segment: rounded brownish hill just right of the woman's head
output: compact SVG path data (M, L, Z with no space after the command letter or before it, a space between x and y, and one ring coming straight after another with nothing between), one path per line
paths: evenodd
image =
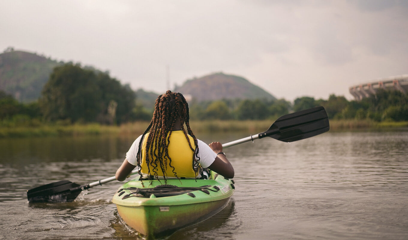
M187 80L181 87L176 87L175 91L182 93L186 98L190 95L197 101L276 99L270 93L252 84L245 78L224 73L213 73L201 78Z

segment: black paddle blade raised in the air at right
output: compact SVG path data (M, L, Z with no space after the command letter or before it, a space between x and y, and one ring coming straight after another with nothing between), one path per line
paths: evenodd
M268 130L259 133L259 138L268 136L283 142L294 142L325 133L329 129L324 107L314 107L278 118Z

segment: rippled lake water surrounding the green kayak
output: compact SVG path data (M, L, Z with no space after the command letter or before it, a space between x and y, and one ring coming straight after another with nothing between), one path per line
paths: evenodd
M120 182L70 203L29 204L26 193L114 176L133 140L0 139L0 239L139 239L111 203ZM224 150L235 168L230 204L168 239L408 239L408 129L328 132L290 144L265 138Z

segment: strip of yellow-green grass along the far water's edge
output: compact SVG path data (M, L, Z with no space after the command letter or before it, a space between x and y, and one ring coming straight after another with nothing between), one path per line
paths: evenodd
M194 133L248 131L259 133L266 131L273 120L208 120L192 121ZM36 127L0 127L0 138L8 137L43 137L43 136L89 136L102 134L119 134L137 136L144 132L149 122L132 122L120 126L107 126L97 123L72 125L40 125ZM375 122L372 120L330 120L330 131L354 131L369 129L390 129L408 127L405 122Z

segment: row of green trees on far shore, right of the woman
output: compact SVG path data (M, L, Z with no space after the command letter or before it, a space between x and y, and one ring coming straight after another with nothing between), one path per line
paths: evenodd
M327 100L313 97L296 98L292 103L284 100L219 100L207 103L193 103L192 118L195 119L237 119L275 120L292 111L323 106L329 119L408 121L408 94L400 91L379 89L361 101L349 101L344 96L331 94Z

